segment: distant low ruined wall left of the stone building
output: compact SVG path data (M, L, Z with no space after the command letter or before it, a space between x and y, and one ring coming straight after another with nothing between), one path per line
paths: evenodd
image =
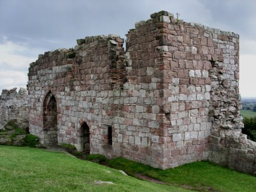
M27 91L24 88L20 88L17 93L16 89L2 91L0 97L0 124L4 126L6 122L13 121L21 129L28 131L29 105Z

